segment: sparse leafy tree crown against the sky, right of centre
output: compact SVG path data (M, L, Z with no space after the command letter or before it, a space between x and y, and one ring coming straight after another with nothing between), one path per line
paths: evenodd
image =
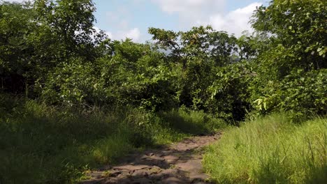
M170 52L173 62L182 63L183 70L191 59L212 60L216 66L223 66L233 61L233 54L238 52L237 39L224 31L215 31L211 26L193 27L189 31L166 31L150 28L152 39L161 49Z

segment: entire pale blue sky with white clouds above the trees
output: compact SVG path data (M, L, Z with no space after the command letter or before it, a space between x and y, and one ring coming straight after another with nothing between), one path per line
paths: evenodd
M23 1L23 0L6 0ZM217 31L240 36L252 32L249 18L268 0L94 0L96 29L109 38L150 40L149 27L187 31L192 26L211 25Z

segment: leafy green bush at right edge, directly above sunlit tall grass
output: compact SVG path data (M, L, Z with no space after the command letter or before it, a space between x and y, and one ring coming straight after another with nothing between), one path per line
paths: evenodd
M304 72L297 70L281 82L270 81L264 96L256 100L260 112L292 112L295 120L327 112L326 69Z

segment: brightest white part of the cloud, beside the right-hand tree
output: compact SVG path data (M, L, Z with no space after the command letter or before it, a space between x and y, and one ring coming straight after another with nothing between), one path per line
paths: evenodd
M203 22L203 24L211 24L216 30L227 31L228 33L234 33L235 36L240 36L242 31L253 31L249 20L256 7L261 5L262 3L251 3L249 6L238 8L226 15L219 13L211 15L208 22Z

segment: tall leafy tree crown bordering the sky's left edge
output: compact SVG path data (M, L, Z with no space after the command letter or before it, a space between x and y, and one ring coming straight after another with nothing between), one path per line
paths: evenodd
M55 58L61 61L71 59L72 56L89 61L96 58L94 47L101 33L96 33L94 29L96 9L92 0L38 0L34 2L34 9L38 13L37 21L41 24L41 32L36 36L48 36L50 31L50 44L57 44L55 50L51 51L56 53Z

